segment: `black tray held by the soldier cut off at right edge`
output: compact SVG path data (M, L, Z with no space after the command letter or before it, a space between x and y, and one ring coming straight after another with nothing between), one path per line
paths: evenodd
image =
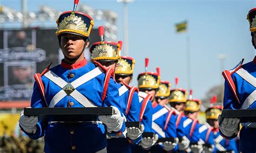
M222 111L223 117L238 117L241 122L256 122L256 109L224 109Z

